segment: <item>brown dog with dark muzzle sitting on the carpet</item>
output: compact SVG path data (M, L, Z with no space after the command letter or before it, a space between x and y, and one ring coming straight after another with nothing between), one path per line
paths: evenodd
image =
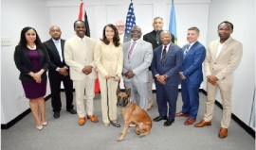
M135 103L130 101L130 93L130 89L128 89L126 92L120 92L120 89L118 88L117 91L117 106L121 109L121 115L124 120L124 127L119 139L117 140L118 142L123 141L124 136L127 133L127 129L131 123L135 124L135 131L139 137L144 137L150 134L150 130L152 128L152 120L150 116L144 109L138 107Z

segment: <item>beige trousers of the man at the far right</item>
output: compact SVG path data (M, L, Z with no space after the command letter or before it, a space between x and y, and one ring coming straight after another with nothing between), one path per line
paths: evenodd
M217 90L219 89L223 107L221 127L229 128L231 119L231 94L233 82L218 81L216 85L212 85L210 82L208 82L207 86L208 95L204 120L208 122L212 119L215 97Z

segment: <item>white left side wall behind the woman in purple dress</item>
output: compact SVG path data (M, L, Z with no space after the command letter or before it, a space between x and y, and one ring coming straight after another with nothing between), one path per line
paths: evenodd
M1 46L1 124L7 124L29 108L13 60L20 32L27 25L33 26L41 40L46 41L49 13L46 1L42 0L2 0L1 13L1 37L11 41L10 46Z

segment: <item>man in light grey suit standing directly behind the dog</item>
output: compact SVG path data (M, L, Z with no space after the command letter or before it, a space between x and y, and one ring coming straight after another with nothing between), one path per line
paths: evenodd
M139 94L139 107L147 109L149 66L153 59L153 49L150 42L140 39L141 28L135 25L131 30L131 42L123 43L123 81L126 89L131 89L131 99L137 103Z

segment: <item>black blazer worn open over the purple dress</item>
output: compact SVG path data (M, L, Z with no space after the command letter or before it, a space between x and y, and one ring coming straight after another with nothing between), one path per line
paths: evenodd
M15 65L20 71L20 76L19 79L21 81L26 81L26 82L34 82L34 79L30 76L27 75L29 72L32 72L32 66L31 66L31 61L28 56L29 49L27 47L22 47L21 45L17 45L15 47L15 52L14 52L14 61ZM48 66L49 66L49 58L46 49L43 48L38 48L39 52L39 66L41 69L44 69L47 71ZM46 72L41 76L43 80L47 79Z

